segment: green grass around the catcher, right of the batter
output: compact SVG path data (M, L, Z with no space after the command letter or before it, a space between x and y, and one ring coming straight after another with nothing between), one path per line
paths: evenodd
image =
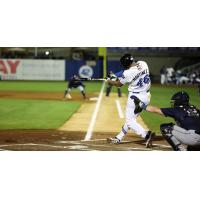
M151 105L167 108L170 107L170 99L175 92L184 90L188 92L191 99L191 104L194 104L198 108L200 108L200 96L198 94L198 90L196 87L171 87L171 86L152 86L151 88ZM154 113L148 113L143 111L141 114L143 120L147 124L147 126L159 133L160 132L160 124L174 122L172 118L163 117L161 115L157 115Z

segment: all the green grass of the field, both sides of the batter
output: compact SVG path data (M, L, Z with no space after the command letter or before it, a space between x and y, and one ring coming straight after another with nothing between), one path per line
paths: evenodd
M86 91L99 92L101 82L85 82ZM66 82L24 82L0 81L0 91L32 91L32 92L63 92ZM200 107L200 96L196 87L177 87L153 85L151 88L151 104L158 107L170 107L170 98L173 93L184 90L189 93L191 103ZM127 88L122 88L127 93ZM79 92L75 90L74 92ZM116 92L116 88L113 88ZM58 128L81 105L73 101L67 104L60 101L45 100L12 100L0 99L0 129L49 129ZM156 114L142 112L142 117L148 127L159 132L159 125L171 122Z

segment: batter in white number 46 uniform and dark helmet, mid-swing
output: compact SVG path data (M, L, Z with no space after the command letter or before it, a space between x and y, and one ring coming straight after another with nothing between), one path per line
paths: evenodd
M147 106L150 103L151 80L148 65L144 61L136 61L131 54L122 56L120 63L124 68L122 77L116 81L107 80L107 82L117 87L128 84L129 95L126 105L126 122L122 126L120 133L114 138L108 138L107 141L109 143L120 143L128 130L132 129L137 135L145 138L146 147L150 147L155 133L145 130L136 121L142 111L140 104Z

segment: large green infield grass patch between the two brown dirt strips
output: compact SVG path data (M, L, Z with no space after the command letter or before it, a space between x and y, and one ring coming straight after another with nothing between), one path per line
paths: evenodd
M0 129L57 129L79 102L0 99Z

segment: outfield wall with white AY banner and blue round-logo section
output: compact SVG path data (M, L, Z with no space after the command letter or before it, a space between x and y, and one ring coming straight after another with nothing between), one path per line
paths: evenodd
M102 78L102 66L102 60L0 59L0 77L2 80L63 81L76 74L82 78Z

